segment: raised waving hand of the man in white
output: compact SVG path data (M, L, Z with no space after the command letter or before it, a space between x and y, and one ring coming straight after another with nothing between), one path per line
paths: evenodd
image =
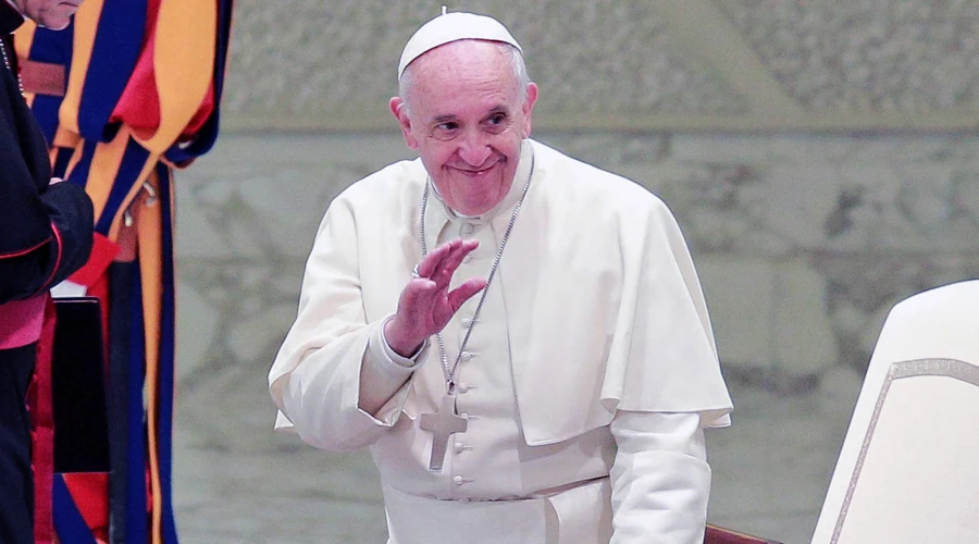
M454 239L435 248L420 263L418 277L401 290L398 310L384 325L384 336L394 351L409 357L429 336L441 332L463 302L486 287L473 277L449 290L453 274L462 259L479 247L478 240Z

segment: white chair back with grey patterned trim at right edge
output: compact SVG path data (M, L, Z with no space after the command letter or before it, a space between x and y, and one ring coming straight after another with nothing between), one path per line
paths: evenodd
M897 304L813 544L979 542L979 281Z

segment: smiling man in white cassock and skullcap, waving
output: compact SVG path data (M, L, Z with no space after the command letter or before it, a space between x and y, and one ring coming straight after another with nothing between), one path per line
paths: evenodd
M369 447L389 544L703 542L732 409L669 209L530 139L497 21L443 14L392 98L419 159L326 210L269 373L276 426Z

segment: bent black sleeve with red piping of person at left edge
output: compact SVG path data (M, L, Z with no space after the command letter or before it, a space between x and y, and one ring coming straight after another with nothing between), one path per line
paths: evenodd
M91 252L92 207L85 190L69 182L41 195L51 238L36 249L0 259L0 304L54 286L82 268Z

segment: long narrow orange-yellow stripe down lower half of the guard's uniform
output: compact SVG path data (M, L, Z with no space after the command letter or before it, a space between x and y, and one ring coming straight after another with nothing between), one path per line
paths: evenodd
M148 182L158 189L160 184L156 172L151 173ZM146 323L146 421L149 440L150 461L150 489L153 497L152 509L152 542L160 544L162 540L162 509L163 495L160 486L160 456L157 440L157 418L159 415L159 384L160 374L160 316L163 305L163 236L161 233L162 218L160 203L146 206L142 200L136 203L139 254L139 271L142 280L142 319Z

